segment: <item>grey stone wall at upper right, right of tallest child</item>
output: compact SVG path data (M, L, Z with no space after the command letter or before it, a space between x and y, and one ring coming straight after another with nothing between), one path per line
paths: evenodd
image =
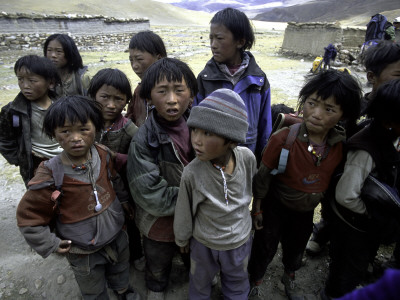
M341 49L357 52L364 42L364 37L365 29L342 28L334 23L289 22L282 51L316 57L322 56L324 47L329 44L340 44Z

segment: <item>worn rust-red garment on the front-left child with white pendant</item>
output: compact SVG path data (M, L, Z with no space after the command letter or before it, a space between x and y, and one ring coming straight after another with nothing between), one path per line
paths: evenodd
M59 206L51 200L51 194L55 190L54 184L49 187L32 190L35 185L54 181L50 169L41 163L36 175L28 183L28 191L22 197L17 208L17 223L19 227L48 225L58 215L62 223L75 223L95 215L101 214L116 199L116 194L108 178L108 170L113 170L112 161L108 162L107 152L98 146L96 150L101 160L101 169L96 181L98 198L103 205L99 212L94 210L96 199L91 183L84 183L64 175L63 196ZM114 174L113 174L114 175ZM77 198L78 197L78 198Z

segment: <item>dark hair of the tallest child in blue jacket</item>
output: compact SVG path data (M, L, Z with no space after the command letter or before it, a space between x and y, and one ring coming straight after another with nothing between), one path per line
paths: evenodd
M255 43L253 27L249 18L240 10L234 8L225 8L217 12L210 21L211 24L221 24L232 32L236 41L245 39L246 42L241 50L250 50Z

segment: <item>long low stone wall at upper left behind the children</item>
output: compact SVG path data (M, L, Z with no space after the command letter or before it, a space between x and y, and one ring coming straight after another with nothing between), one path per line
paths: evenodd
M42 48L53 33L69 34L78 47L127 45L133 33L149 30L147 19L79 15L0 14L0 51Z

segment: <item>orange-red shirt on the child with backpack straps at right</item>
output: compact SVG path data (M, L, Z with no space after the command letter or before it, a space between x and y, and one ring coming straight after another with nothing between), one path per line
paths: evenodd
M269 169L278 166L279 156L289 128L285 128L272 135L264 151L262 162ZM329 147L327 145L327 147ZM328 155L321 160L320 166L316 163L308 150L308 143L296 138L289 150L289 159L286 170L278 174L277 179L295 190L305 193L321 193L327 190L332 174L343 158L343 143L336 143L329 148Z

